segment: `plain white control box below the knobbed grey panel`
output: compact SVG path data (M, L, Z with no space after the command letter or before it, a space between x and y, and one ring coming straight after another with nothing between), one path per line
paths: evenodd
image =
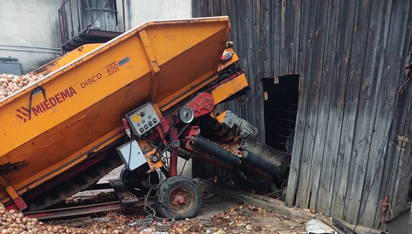
M147 162L136 140L122 144L116 150L128 170L134 170Z

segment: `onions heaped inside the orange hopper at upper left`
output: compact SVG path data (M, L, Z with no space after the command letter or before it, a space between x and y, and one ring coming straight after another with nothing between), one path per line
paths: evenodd
M12 75L1 74L0 75L0 100L5 99L7 96L18 92L23 87L31 85L38 79L41 79L43 75Z

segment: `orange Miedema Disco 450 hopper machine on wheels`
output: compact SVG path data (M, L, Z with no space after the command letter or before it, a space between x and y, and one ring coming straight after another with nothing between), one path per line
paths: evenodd
M157 190L161 214L193 217L200 198L190 178L175 176L179 152L240 163L240 156L209 151L198 135L201 118L248 86L226 48L229 29L228 17L149 22L33 71L45 76L0 101L0 202L41 210L124 163L129 179L149 184L150 172L164 170L170 178Z

